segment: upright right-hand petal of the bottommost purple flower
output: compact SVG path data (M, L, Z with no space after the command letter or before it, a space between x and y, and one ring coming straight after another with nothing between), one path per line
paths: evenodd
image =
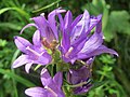
M54 75L53 81L55 82L55 84L57 84L57 87L61 88L62 82L63 82L62 72L57 72L57 73Z

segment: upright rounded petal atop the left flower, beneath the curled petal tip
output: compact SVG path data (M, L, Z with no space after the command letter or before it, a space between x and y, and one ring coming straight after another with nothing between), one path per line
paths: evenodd
M36 32L34 33L34 37L32 37L32 42L36 46L41 46L41 43L40 43L40 32L39 30L36 30Z

